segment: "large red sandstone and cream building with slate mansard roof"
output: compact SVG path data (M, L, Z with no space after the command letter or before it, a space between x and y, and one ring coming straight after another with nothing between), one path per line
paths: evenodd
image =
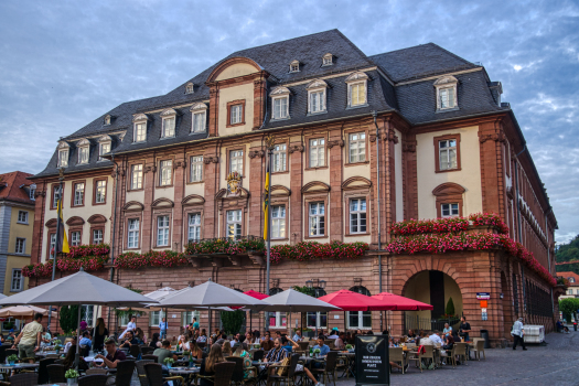
M519 315L549 330L557 292L502 250L384 250L395 222L496 213L508 236L555 272L557 222L501 94L501 83L481 64L432 43L366 56L332 30L233 53L174 90L121 104L58 141L46 169L32 178L32 261L46 261L54 247L61 168L72 245L112 244L115 236L115 256L183 253L190 240L262 235L265 140L272 135L272 245L369 245L355 260L272 264L274 291L310 280L318 293L345 288L376 294L382 282L384 291L435 305L432 312L386 313L393 333L430 329L423 321L444 313L450 298L472 334L489 330L495 344L510 337ZM242 175L238 194L227 191L232 172ZM120 268L115 280L144 293L208 278L267 291L259 256L189 259L171 268ZM108 278L108 272L94 274ZM57 272L63 275L68 272ZM46 280L31 278L30 286ZM490 293L486 315L478 292ZM99 308L89 313L106 318ZM174 332L191 317L169 313ZM202 325L206 318L202 312ZM262 330L262 317L253 318L254 329ZM278 312L267 323L282 329L288 319ZM158 320L159 314L149 315L149 332ZM308 313L305 320L309 326L341 330L347 323L377 331L382 323L379 312ZM147 318L139 321L147 324Z

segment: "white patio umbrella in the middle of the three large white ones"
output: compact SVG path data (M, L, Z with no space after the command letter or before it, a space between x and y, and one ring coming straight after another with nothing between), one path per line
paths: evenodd
M234 289L217 285L211 279L195 287L187 287L171 297L159 300L163 308L197 310L207 308L210 311L208 331L211 334L211 310L217 307L245 307L251 310L261 310L268 303L238 292Z

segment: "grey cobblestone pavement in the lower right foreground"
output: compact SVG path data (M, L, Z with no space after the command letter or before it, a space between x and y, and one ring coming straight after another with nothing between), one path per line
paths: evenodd
M579 385L579 332L551 333L547 345L512 349L489 349L486 361L469 361L467 366L443 366L420 371L410 365L407 374L395 371L392 385ZM353 379L340 379L336 386L353 386ZM333 385L326 385L333 386Z

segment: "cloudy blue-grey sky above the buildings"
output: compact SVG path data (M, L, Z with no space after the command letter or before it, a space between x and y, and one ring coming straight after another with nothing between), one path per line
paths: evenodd
M579 233L573 1L0 2L0 173L40 172L58 137L162 95L229 53L337 28L367 55L435 42L503 83L559 223Z

